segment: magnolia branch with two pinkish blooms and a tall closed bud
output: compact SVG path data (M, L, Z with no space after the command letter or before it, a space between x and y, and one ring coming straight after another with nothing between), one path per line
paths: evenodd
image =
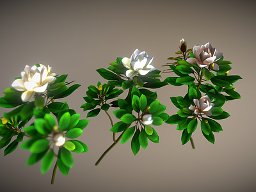
M215 120L230 116L221 107L228 100L240 99L233 84L240 76L228 76L231 62L223 60L222 52L216 51L211 44L195 45L187 49L186 41L180 40L181 54L168 63L170 70L178 77L167 77L164 81L174 86L188 85L188 93L184 97L170 97L173 104L179 108L176 115L166 120L166 124L177 124L177 130L182 131L182 145L191 141L192 133L200 123L204 137L214 143L213 132L222 131L221 125ZM204 94L204 96L202 96Z

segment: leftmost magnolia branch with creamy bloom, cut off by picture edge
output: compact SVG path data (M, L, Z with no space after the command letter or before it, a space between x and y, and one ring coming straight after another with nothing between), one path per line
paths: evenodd
M26 165L35 164L42 159L41 173L46 173L56 163L52 173L52 181L56 169L67 175L74 160L71 152L87 152L87 146L78 140L88 120L80 120L80 115L68 108L67 102L56 102L56 99L70 95L80 85L67 85L67 75L50 74L51 67L36 64L28 65L12 83L12 88L4 90L0 98L2 108L15 108L4 113L0 122L0 148L4 148L4 156L20 148L32 152ZM31 101L29 101L31 100ZM17 107L17 108L16 108ZM34 117L35 120L31 120ZM23 141L24 136L28 140ZM71 140L66 140L69 138ZM12 143L10 143L12 141Z

